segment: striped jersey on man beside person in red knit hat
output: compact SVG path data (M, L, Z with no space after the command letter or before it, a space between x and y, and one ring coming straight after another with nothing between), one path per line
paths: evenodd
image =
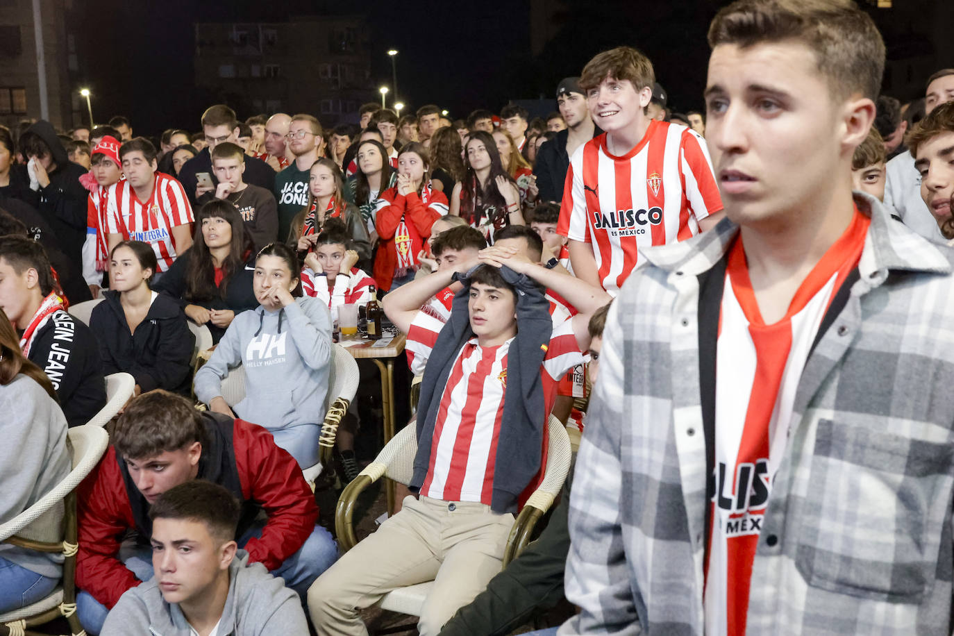
M147 201L140 201L125 179L110 189L106 213L109 234L151 244L159 271L168 270L178 256L173 228L196 220L182 184L168 174L156 173L153 194Z

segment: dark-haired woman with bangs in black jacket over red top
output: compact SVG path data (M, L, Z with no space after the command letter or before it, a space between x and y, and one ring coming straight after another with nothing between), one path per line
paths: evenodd
M252 292L255 252L239 210L225 200L198 209L192 247L154 285L218 342L237 315L259 306Z

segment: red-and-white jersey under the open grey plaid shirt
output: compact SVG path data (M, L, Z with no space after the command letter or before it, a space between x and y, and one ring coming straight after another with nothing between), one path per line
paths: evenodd
M856 210L774 324L765 324L759 313L742 239L730 249L716 340L716 488L705 570L706 634L745 634L758 534L785 455L798 381L825 312L858 265L869 224Z

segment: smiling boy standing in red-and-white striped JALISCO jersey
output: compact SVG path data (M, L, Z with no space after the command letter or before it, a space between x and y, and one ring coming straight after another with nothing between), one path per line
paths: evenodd
M606 132L570 157L557 231L570 238L575 276L613 296L640 249L695 236L721 218L705 140L650 119L654 83L652 62L630 47L599 53L579 79Z

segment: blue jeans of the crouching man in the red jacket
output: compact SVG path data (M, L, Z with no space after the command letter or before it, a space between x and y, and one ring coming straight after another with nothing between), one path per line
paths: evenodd
M246 531L239 539L239 547L247 544L253 537L260 537L261 530L262 526L255 526ZM135 574L135 578L139 581L149 581L153 578L152 548L124 543L119 548L119 560ZM285 559L271 573L284 579L285 586L294 589L303 603L311 584L336 561L338 561L338 544L330 532L321 525L316 525L315 530L301 545L299 551ZM94 636L102 630L108 613L106 606L96 601L88 592L80 591L76 595L76 614L88 634Z

